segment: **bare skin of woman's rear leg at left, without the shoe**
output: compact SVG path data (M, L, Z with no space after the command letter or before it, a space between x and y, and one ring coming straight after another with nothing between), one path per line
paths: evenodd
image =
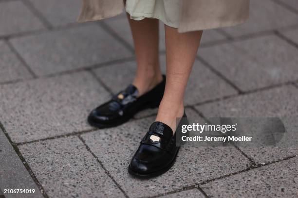
M133 85L138 88L139 96L143 95L162 81L158 55L158 19L145 18L140 21L130 19L137 71Z

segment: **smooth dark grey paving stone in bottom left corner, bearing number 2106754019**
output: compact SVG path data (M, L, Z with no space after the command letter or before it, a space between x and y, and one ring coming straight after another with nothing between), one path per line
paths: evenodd
M4 189L34 189L34 194L5 194L6 198L43 198L18 154L0 129L0 196ZM2 191L2 192L1 192Z

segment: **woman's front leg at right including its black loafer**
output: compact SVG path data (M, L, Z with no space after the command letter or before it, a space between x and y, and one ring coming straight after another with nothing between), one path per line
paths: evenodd
M163 174L177 156L179 147L172 144L175 139L164 124L176 132L176 117L182 117L184 113L184 92L202 36L202 31L178 33L175 28L166 26L165 29L167 80L156 117L159 122L150 126L150 133L142 139L128 169L130 174L139 178Z

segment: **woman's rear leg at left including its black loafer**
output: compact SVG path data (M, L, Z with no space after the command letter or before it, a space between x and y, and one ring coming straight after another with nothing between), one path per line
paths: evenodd
M156 107L164 94L166 83L159 68L158 56L158 19L135 21L129 18L129 22L137 62L132 82L134 86L127 86L117 96L91 111L88 122L97 128L109 128L127 122L138 111Z

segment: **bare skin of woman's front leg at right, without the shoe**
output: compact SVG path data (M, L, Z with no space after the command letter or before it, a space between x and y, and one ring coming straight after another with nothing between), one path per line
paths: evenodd
M203 31L178 33L165 25L167 81L156 121L170 126L175 132L176 117L184 113L184 93Z

